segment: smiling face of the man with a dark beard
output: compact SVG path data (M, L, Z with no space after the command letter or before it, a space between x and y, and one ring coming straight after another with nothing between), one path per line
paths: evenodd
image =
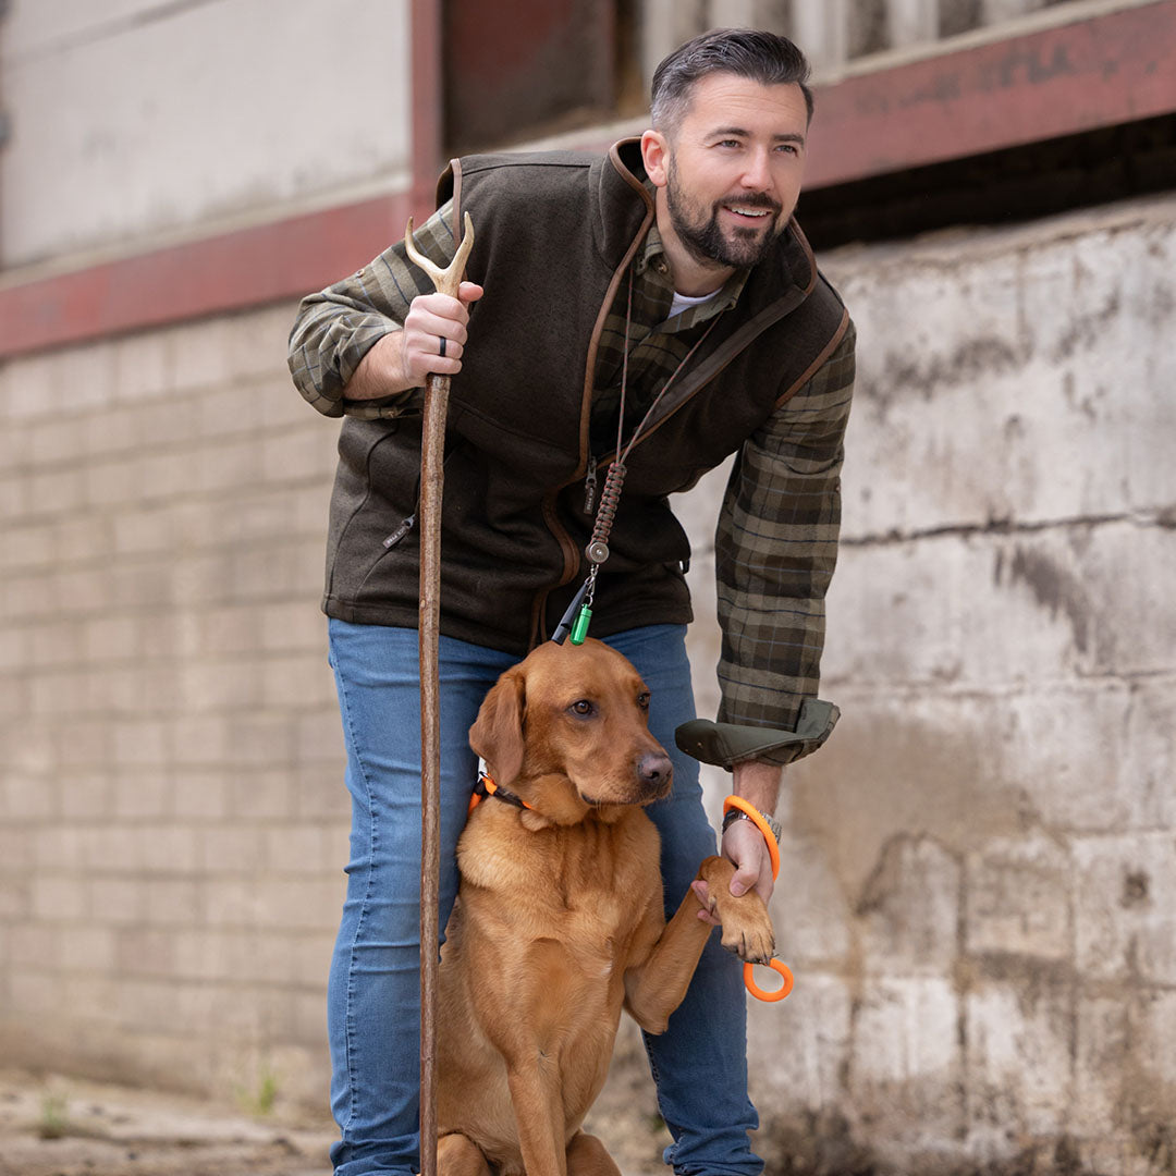
M744 269L783 232L800 196L808 111L800 86L700 79L667 142L670 223L702 265Z

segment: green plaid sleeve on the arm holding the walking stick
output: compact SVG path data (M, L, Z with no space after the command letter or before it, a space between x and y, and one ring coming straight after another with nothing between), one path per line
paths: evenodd
M452 219L453 206L445 203L413 234L417 249L441 267L456 252ZM400 329L413 299L430 293L433 282L401 241L358 274L302 299L288 354L299 392L325 416L373 420L420 410L419 388L380 400L349 400L345 389L369 348Z

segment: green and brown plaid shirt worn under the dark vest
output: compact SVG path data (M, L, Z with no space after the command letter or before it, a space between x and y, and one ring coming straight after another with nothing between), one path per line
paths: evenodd
M446 266L456 245L452 206L420 229L417 248ZM670 321L674 296L656 226L639 253L629 321L627 441L666 380L708 323L735 307L744 276ZM399 329L412 300L432 283L395 249L358 274L305 299L289 363L302 395L327 416L395 417L419 412L422 389L383 400L348 400L345 388L375 341ZM615 448L628 282L622 281L600 341L592 449ZM814 697L824 643L824 595L837 554L842 440L854 382L854 330L800 389L748 437L731 475L715 541L722 655L722 722L791 731ZM787 762L794 750L761 759Z

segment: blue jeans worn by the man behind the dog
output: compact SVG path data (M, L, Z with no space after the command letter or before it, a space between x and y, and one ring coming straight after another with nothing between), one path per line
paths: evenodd
M667 914L715 853L697 763L674 746L694 717L686 629L649 626L609 639L652 693L649 726L674 761L674 790L648 813L662 837ZM442 637L441 910L457 893L455 849L477 771L468 733L486 691L516 657ZM419 1168L420 1114L420 676L414 629L330 621L330 663L352 794L347 898L330 968L332 1110L341 1140L335 1176L407 1176ZM662 1117L681 1176L756 1176L747 1132L741 965L713 934L669 1029L646 1036Z

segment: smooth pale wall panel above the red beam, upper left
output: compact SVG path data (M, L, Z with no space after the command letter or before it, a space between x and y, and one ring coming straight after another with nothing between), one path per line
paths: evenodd
M5 267L407 185L407 0L11 9Z

